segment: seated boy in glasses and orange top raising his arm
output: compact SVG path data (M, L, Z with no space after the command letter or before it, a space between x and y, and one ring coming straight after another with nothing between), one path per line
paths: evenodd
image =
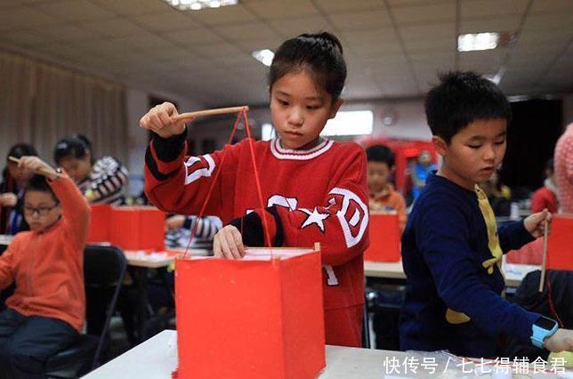
M76 338L84 324L84 246L90 220L69 177L38 157L20 157L36 174L24 195L30 231L0 256L0 288L16 291L0 313L0 376L43 378L44 361ZM45 177L44 177L44 176Z

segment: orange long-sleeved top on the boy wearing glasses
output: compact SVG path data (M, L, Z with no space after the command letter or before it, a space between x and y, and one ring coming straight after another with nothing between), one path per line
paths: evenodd
M24 316L84 325L84 247L90 208L68 177L48 181L60 199L62 217L42 232L18 233L0 256L0 289L16 282L6 305Z

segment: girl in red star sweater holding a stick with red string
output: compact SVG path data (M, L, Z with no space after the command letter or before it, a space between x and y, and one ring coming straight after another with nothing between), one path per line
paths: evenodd
M269 75L278 139L253 142L264 209L248 140L185 157L186 127L173 120L178 112L170 103L151 109L141 127L158 134L145 160L151 203L167 212L198 214L216 170L222 170L206 206L206 214L227 224L214 237L214 254L240 259L244 246L262 246L263 213L272 246L320 242L327 343L360 346L362 253L368 245L366 157L358 144L319 135L343 103L345 78L342 45L329 33L303 34L278 48Z

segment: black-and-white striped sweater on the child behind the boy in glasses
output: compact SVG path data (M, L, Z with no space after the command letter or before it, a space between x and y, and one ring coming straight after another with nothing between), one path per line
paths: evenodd
M127 169L114 157L101 157L92 172L77 183L90 204L119 206L124 202L127 187Z

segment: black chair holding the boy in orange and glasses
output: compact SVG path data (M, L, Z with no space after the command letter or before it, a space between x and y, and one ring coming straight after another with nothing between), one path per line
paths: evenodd
M104 306L106 311L100 312L104 319L101 322L88 316L88 333L80 335L77 342L46 361L44 369L48 377L77 377L100 365L101 351L108 336L109 321L116 310L126 267L125 255L116 246L85 246L86 315L94 306Z

